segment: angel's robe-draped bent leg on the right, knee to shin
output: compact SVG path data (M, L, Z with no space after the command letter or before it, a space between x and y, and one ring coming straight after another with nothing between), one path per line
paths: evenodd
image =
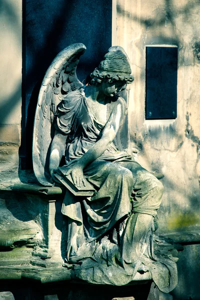
M126 264L133 263L138 270L145 270L141 262L146 262L143 255L146 250L148 254L153 251L153 217L160 205L163 186L137 162L120 162L120 165L127 167L133 175L133 208L124 230L122 259Z

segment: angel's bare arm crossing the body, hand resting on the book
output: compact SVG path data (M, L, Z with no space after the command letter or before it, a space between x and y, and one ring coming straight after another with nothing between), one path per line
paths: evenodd
M103 152L113 141L124 116L124 111L125 101L122 97L120 97L117 99L116 105L114 106L109 119L105 124L101 138L96 141L95 144L93 144L93 146L78 159L77 163L70 167L67 171L66 174L71 173L75 185L80 186L81 182L84 184L82 172L83 168L103 154Z

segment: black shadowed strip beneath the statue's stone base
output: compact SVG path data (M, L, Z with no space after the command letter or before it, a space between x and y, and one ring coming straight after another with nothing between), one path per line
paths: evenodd
M0 288L9 290L14 300L147 300L150 286L151 281L126 286L105 286L70 281L39 284L28 280L6 280Z

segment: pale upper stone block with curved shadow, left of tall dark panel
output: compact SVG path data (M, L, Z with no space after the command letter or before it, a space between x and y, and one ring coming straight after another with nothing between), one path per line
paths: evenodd
M3 124L21 121L21 6L21 0L1 1L0 123Z

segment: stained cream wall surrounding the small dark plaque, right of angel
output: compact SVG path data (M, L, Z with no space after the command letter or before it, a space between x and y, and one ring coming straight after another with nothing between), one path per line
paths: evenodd
M124 47L135 80L131 140L141 164L162 172L160 232L200 225L200 5L198 0L117 0L113 44ZM145 46L178 47L177 118L145 120Z

